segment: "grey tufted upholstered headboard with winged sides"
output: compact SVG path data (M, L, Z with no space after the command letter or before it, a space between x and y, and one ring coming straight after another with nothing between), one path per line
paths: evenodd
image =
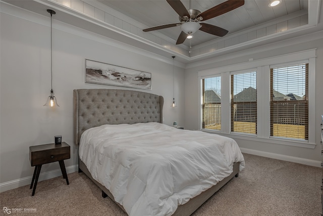
M74 140L102 124L163 122L163 96L115 89L73 90Z

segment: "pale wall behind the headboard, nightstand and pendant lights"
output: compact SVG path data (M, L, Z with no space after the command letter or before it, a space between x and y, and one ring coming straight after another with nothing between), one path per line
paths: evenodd
M7 190L30 184L33 168L29 146L53 143L55 135L71 146L69 171L77 168L77 146L73 140L73 89L128 89L162 95L168 125L184 124L184 69L173 59L120 44L74 26L52 21L53 91L60 107L43 107L50 93L50 17L19 8L1 7L0 74L0 186ZM19 17L17 17L19 16ZM84 60L90 59L152 73L152 90L97 85L84 82ZM42 166L42 179L60 175L59 164ZM54 172L52 174L52 172ZM52 175L51 175L52 174ZM51 176L50 176L51 175ZM40 178L41 179L41 178Z

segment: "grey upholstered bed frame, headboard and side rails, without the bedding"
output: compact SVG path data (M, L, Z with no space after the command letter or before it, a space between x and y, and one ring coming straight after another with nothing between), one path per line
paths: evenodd
M86 129L102 124L163 122L163 96L115 89L79 89L73 91L73 96L74 139L77 145ZM79 171L83 171L102 190L103 197L109 196L115 201L111 192L92 178L81 160L79 160ZM230 176L190 199L187 203L179 205L173 215L192 214L234 176L238 177L238 173L239 163L234 163ZM125 211L120 203L116 203Z

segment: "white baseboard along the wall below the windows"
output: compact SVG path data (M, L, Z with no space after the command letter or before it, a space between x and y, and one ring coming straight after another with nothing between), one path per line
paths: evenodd
M285 161L305 164L309 166L321 167L321 161L318 161L318 160L311 160L311 159L306 159L301 157L293 157L293 156L288 156L283 154L276 154L276 153L258 151L258 150L247 149L247 148L240 148L240 150L242 153L253 154L253 155L258 155L262 157L269 157L269 158L278 159L278 160L285 160Z

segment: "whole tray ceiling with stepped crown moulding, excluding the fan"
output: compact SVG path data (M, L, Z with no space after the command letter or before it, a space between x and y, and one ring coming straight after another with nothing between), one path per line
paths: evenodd
M175 45L179 26L143 32L145 28L179 22L178 14L166 0L2 0L3 3L44 15L57 12L54 19L110 37L167 59L193 63L210 57L271 44L323 30L320 0L282 0L276 8L270 0L245 0L233 11L204 21L229 31L224 37L197 31L192 39ZM224 0L181 1L186 9L201 12ZM191 5L191 6L190 6ZM2 10L3 12L4 10Z

